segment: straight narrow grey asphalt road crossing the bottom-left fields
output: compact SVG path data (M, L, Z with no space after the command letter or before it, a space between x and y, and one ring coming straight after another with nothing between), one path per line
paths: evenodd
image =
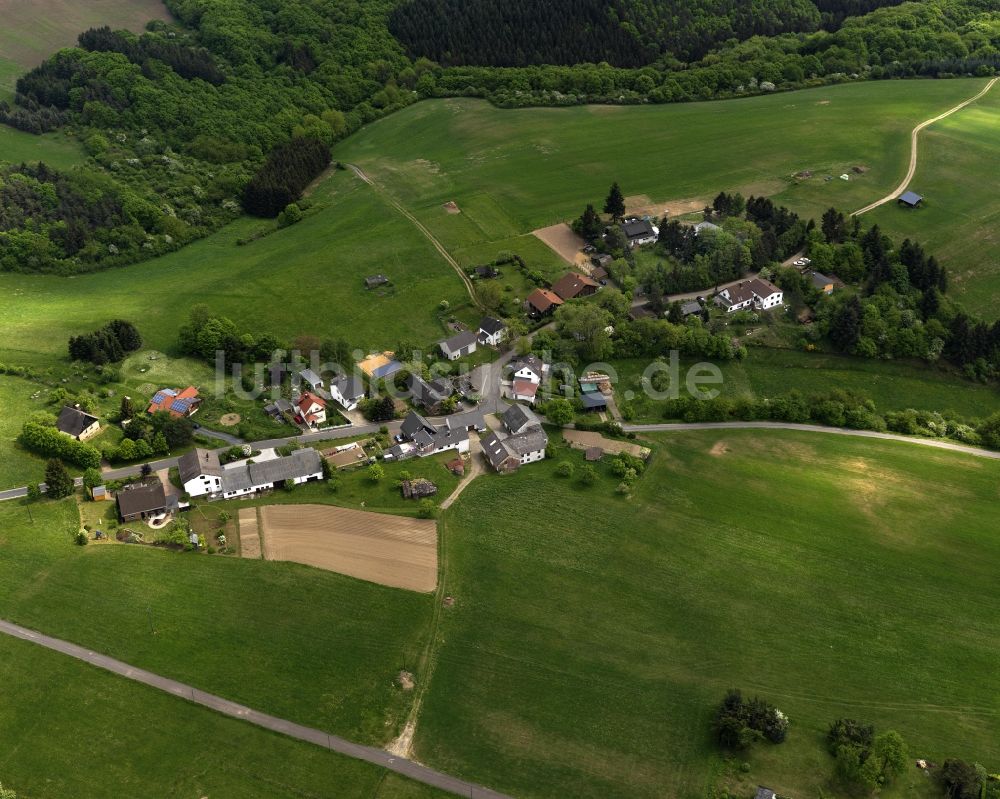
M506 794L492 791L489 788L484 788L483 786L476 785L472 782L466 782L458 777L452 777L449 774L443 774L440 771L427 768L426 766L422 766L412 760L390 755L382 749L375 749L371 746L362 746L361 744L348 741L345 738L330 735L322 730L317 730L312 727L304 727L301 724L295 724L294 722L280 719L276 716L270 716L267 713L261 713L259 710L254 710L253 708L237 704L236 702L231 702L221 696L199 691L191 685L186 685L167 677L161 677L159 674L153 674L152 672L145 671L144 669L137 669L134 666L130 666L128 663L115 660L114 658L102 655L99 652L93 652L82 646L71 644L68 641L63 641L59 638L52 638L48 635L35 632L34 630L29 630L27 627L22 627L19 624L13 624L9 621L0 620L0 633L9 635L13 638L20 638L22 641L30 641L31 643L38 644L46 649L60 652L63 655L69 655L72 658L82 660L84 663L88 663L96 668L109 671L112 674L117 674L120 677L125 677L126 679L134 680L135 682L140 682L143 685L148 685L158 691L173 694L181 699L193 702L196 705L202 705L203 707L207 707L217 713L222 713L225 716L231 716L232 718L246 721L250 724L255 724L258 727L263 727L265 730L270 730L271 732L276 732L281 735L287 735L290 738L296 738L300 741L315 744L316 746L321 746L324 749L329 749L332 752L337 752L338 754L346 755L347 757L352 757L356 760L364 760L366 763L371 763L375 766L379 766L380 768L401 774L404 777L409 777L411 780L423 783L424 785L430 785L434 788L448 791L456 796L466 796L470 799L510 799L510 797Z

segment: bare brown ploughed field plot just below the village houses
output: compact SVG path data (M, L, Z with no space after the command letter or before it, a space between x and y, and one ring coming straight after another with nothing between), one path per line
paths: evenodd
M267 560L288 560L395 588L437 586L437 525L329 505L260 509Z

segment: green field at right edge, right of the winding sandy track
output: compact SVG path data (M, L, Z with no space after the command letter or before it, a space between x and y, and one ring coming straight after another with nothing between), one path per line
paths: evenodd
M1000 85L973 105L920 134L920 158L910 187L922 208L890 203L870 220L898 236L919 239L951 271L949 293L970 311L1000 317Z

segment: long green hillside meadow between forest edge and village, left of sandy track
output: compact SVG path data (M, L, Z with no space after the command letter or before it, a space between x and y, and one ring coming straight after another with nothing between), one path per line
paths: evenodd
M721 190L777 194L801 170L824 182L806 205L863 205L898 183L910 129L982 80L868 82L713 103L502 110L468 99L418 103L341 142L449 248L481 245L600 205L612 181L649 202ZM796 195L788 192L788 202ZM454 201L461 214L448 214Z

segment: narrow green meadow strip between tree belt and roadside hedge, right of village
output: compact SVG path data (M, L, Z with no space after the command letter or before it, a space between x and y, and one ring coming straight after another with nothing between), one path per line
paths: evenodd
M693 364L682 364L682 381ZM619 379L619 402L627 399L628 392L636 420L663 421L663 401L648 397L642 389L640 378L649 361L616 361L613 365ZM995 386L920 364L752 347L746 360L717 366L723 383L707 387L728 397L774 397L792 390L808 396L842 389L869 397L880 411L953 411L971 420L1000 410L1000 391Z

